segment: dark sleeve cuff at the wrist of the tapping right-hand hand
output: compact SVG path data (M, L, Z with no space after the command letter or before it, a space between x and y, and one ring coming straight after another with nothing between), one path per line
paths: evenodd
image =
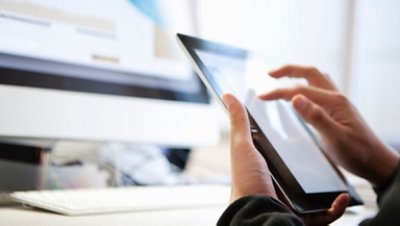
M379 212L360 225L400 225L400 167L387 188L375 191L378 195Z

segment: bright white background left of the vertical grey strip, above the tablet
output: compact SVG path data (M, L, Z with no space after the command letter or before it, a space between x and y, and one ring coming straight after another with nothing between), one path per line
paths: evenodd
M347 0L201 0L200 34L258 52L273 67L315 65L343 83Z

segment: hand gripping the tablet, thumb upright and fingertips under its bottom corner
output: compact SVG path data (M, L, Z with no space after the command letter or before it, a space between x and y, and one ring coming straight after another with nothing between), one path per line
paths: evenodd
M247 195L277 198L267 163L253 144L246 109L231 94L225 94L223 100L231 121L231 202ZM342 216L348 201L349 196L341 194L329 210L299 217L306 225L327 225Z

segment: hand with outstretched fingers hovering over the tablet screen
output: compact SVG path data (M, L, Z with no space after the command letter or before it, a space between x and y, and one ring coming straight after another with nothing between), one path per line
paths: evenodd
M308 86L282 88L260 96L263 100L286 99L321 134L326 154L375 187L390 179L399 155L368 127L350 101L325 74L312 67L287 65L271 71L274 78L304 78Z

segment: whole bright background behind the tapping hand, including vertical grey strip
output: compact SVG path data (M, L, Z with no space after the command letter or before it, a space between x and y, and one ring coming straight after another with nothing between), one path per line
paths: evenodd
M193 2L200 36L255 51L273 67L318 67L380 137L399 147L399 1Z

